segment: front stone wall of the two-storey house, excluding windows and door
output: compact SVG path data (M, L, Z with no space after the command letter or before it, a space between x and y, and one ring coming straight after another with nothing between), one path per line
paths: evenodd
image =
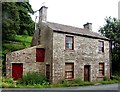
M90 81L99 77L99 63L105 64L105 76L110 77L109 41L74 36L74 50L65 50L65 36L53 34L53 82L65 79L65 63L74 63L74 78L84 80L84 65L90 65ZM98 52L98 41L104 41L104 53Z

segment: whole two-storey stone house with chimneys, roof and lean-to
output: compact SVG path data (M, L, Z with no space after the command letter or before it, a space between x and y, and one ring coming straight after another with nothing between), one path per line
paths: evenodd
M39 10L31 47L6 55L7 77L22 78L29 71L43 73L52 83L81 78L110 78L109 39L84 28L47 22L47 7Z

